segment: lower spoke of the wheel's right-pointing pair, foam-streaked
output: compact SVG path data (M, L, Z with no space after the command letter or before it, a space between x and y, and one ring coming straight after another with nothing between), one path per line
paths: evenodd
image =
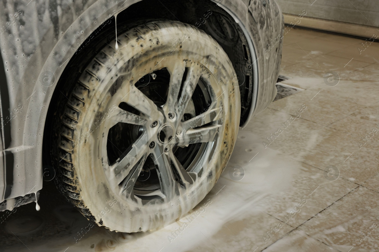
M201 128L187 130L182 137L177 138L177 145L196 144L215 140L221 125L213 124Z

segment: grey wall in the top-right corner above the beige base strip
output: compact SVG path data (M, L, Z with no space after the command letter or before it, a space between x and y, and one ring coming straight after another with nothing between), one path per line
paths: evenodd
M379 27L379 0L276 0L285 14ZM312 4L313 3L313 4Z

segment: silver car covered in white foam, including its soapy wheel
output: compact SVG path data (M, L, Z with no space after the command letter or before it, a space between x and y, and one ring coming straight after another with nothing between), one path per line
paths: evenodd
M153 230L199 204L276 96L274 0L7 0L0 210L43 181L88 220Z

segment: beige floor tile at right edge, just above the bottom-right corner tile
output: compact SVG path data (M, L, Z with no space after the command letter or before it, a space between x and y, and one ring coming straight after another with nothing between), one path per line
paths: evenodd
M357 184L377 174L379 144L376 138L360 148L364 136L360 133L349 134L329 127L305 132L307 134L293 135L292 139L288 137L285 147L277 150L321 170L334 165L336 174Z

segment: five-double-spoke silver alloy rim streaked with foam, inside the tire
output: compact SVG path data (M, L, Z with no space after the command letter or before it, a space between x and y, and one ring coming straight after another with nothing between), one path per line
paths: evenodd
M215 154L219 134L223 130L222 98L216 96L221 89L217 87L216 78L205 66L195 63L196 60L175 58L174 64L169 62L162 62L161 66L151 69L149 73L132 70L128 73L129 78L125 77L126 73L118 74L116 82L121 79L119 87L124 90L119 89L112 97L108 97L105 102L107 105L101 110L103 113L109 111L111 106L114 108L97 134L108 139L101 144L102 165L111 190L129 204L173 201L188 193L208 169L202 164ZM166 102L157 105L157 102L136 87L136 83L141 76L151 80L162 69L169 73L168 92ZM184 118L188 107L196 107L193 101L195 90L201 90L197 93L207 96L207 105L201 108L202 113L197 108L197 113ZM122 103L135 109L136 113L121 108ZM110 131L120 123L137 127L138 137L133 139L126 150L122 150L116 161L110 162L105 142L111 142ZM114 145L113 142L111 144ZM185 149L193 144L198 144L199 147L189 164L183 167L175 153L179 148ZM155 165L159 183L136 188L136 182L141 178L141 172L149 158Z

